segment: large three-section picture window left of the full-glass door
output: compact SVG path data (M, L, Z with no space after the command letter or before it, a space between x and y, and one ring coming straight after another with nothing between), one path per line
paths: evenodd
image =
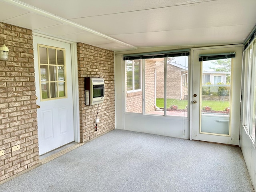
M187 117L188 54L124 57L126 112Z

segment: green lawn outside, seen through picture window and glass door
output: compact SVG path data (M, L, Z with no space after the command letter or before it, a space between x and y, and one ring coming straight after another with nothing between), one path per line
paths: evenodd
M169 108L170 105L177 105L178 109L185 109L186 105L188 105L187 100L178 100L178 99L167 99L166 107ZM156 99L156 106L159 108L164 108L164 99L157 98ZM224 108L229 106L228 101L202 101L202 106L209 106L212 108L212 110L215 111L223 111Z

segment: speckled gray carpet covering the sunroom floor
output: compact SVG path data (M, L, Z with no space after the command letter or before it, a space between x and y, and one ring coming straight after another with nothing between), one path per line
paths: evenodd
M0 192L253 192L239 147L113 130Z

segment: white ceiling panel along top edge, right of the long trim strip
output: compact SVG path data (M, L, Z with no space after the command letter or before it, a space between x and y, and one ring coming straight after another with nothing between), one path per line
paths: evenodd
M207 1L212 0L21 0L21 2L66 19L134 12Z

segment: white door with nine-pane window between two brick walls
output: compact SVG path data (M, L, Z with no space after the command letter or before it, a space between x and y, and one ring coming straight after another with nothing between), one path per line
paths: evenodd
M74 141L70 44L33 36L39 154Z

